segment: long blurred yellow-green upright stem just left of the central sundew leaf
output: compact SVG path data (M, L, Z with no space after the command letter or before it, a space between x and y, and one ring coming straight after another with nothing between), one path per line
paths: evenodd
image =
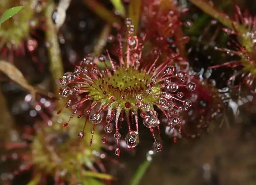
M61 51L58 41L58 31L52 22L52 13L55 8L55 4L52 0L48 1L48 5L45 11L46 17L46 42L49 43L48 55L50 59L50 72L52 74L55 90L54 93L59 96L59 78L63 76L64 69L61 60Z

